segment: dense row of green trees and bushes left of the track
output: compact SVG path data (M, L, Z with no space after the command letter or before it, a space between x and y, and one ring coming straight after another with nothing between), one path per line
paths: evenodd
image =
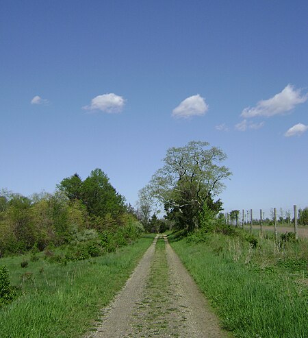
M92 240L112 251L136 239L142 225L101 169L86 180L64 178L55 193L0 194L0 256Z

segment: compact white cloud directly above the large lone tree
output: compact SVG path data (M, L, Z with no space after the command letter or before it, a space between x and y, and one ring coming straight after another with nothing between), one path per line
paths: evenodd
M187 119L188 117L203 115L208 109L209 106L205 99L197 94L181 101L181 104L172 110L172 117Z

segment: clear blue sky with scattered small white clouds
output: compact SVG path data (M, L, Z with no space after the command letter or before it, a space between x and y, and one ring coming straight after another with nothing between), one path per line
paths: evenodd
M189 141L227 210L308 205L307 1L0 1L0 189L103 169L127 202ZM291 129L292 128L292 129Z

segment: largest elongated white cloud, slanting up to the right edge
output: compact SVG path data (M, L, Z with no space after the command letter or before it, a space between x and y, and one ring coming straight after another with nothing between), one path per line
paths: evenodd
M241 116L245 118L265 116L271 117L277 114L283 114L292 110L297 104L303 104L308 95L301 95L301 89L295 89L288 84L281 93L278 93L267 100L261 100L257 106L247 107L242 111Z

